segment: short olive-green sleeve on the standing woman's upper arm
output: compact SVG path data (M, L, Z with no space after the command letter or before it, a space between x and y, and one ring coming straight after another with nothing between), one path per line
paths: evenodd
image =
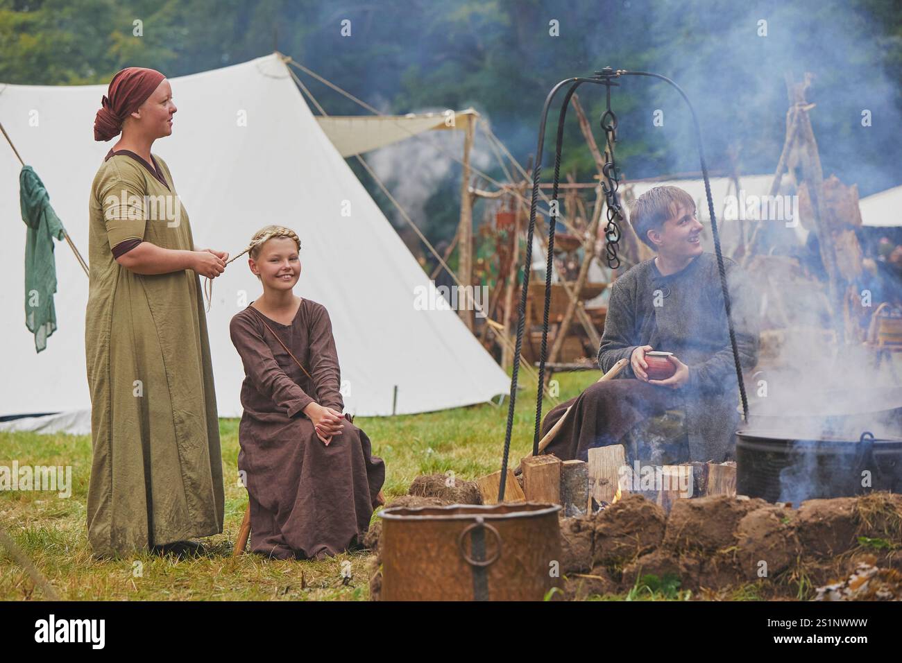
M147 227L144 180L135 170L112 163L99 182L98 196L104 210L110 250L127 239L143 240Z

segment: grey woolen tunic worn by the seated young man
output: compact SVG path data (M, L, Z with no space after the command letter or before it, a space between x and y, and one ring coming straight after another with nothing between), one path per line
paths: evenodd
M748 373L758 360L759 297L739 265L723 261L740 362ZM689 382L675 394L686 412L692 459L732 458L740 397L716 256L702 253L667 276L647 260L614 281L598 364L607 371L640 345L672 352L689 367ZM628 366L621 377L635 375Z

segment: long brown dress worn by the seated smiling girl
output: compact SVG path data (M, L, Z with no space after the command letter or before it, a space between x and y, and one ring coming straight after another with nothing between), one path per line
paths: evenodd
M345 407L326 308L302 299L292 323L282 325L248 306L229 329L244 363L238 470L251 506L251 549L278 559L322 558L359 545L385 465L351 422L327 447L303 413L311 401Z

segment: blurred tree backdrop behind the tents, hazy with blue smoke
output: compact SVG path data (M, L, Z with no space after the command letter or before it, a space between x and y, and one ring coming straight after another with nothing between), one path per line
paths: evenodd
M349 37L341 35L344 20ZM135 21L142 36L134 35ZM171 78L276 48L383 112L474 106L524 164L535 152L550 87L611 65L658 72L686 89L713 170L729 168L732 148L741 172L770 172L785 131L784 74L797 80L811 71L824 174L857 182L862 196L902 181L897 0L0 0L5 83L106 83L127 66ZM364 112L315 81L305 83L330 114ZM586 90L581 97L597 129L603 95ZM686 109L671 89L623 80L613 104L627 178L698 169ZM653 124L655 110L663 112L663 126ZM864 110L871 126L862 126ZM581 180L594 175L575 118L564 155L566 171ZM361 179L392 217L372 182ZM428 193L417 221L433 239L454 233L458 181L452 166Z

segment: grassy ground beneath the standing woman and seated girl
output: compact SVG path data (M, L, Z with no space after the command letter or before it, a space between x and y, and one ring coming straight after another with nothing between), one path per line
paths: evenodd
M559 400L572 398L600 373L557 373ZM521 381L524 383L524 381ZM511 458L518 462L532 445L535 382L517 398ZM545 410L553 407L546 399ZM386 465L386 498L407 493L419 474L453 470L469 480L501 466L507 399L502 407L476 405L393 418L355 419L373 440L373 453ZM247 493L238 482L238 419L220 419L226 522L222 534L203 539L207 555L191 559L134 555L113 561L91 557L87 544L87 481L90 437L0 433L0 465L71 465L71 496L0 491L0 525L23 548L60 598L70 600L365 600L369 553L345 554L323 562L270 561L232 547L244 515ZM373 516L376 518L376 516ZM350 560L350 582L342 562ZM346 565L345 565L346 566ZM0 599L44 598L28 574L0 546Z

